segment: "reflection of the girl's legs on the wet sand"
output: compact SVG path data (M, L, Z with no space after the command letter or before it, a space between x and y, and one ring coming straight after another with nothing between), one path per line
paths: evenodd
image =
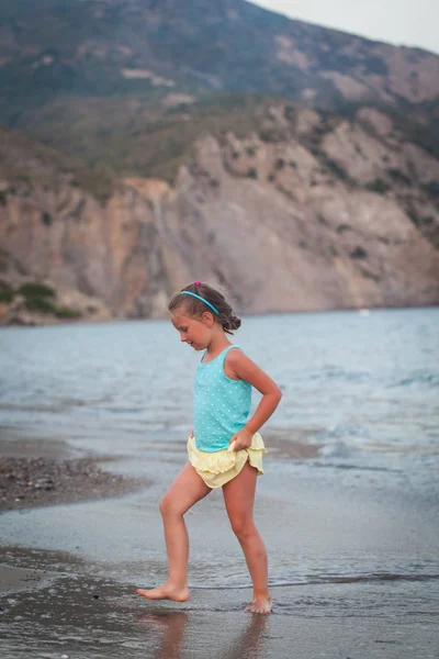
M164 630L157 659L182 658L181 646L189 622L189 614L169 611L145 613L138 619ZM258 659L262 647L262 633L266 629L268 619L264 615L250 615L243 632L232 639L230 646L228 648L217 648L218 659Z

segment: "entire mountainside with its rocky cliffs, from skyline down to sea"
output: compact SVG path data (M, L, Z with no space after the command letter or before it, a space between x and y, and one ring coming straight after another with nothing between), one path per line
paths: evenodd
M439 302L434 54L243 0L0 0L0 91L5 300L159 316L204 278L247 312Z

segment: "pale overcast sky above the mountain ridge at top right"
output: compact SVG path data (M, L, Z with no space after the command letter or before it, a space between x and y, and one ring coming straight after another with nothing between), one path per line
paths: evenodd
M250 0L292 19L439 53L438 0Z

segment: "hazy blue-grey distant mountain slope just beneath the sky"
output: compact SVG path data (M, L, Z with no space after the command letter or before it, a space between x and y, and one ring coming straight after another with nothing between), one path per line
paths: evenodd
M2 0L0 86L54 93L262 92L335 107L439 97L439 57L301 21L244 0ZM19 112L20 113L20 112Z

